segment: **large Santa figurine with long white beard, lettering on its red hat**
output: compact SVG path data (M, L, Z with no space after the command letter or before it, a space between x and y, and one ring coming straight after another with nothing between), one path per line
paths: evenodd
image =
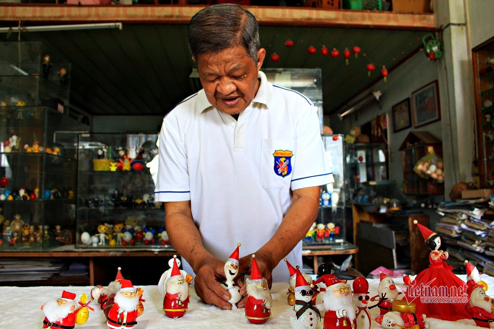
M334 274L325 274L313 281L311 287L321 281L326 284L326 291L323 292L326 309L323 328L354 328L357 308L353 305L350 286L342 283Z

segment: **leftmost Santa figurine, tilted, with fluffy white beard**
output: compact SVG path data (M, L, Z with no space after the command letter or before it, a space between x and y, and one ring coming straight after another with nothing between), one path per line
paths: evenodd
M41 305L45 316L43 328L74 328L76 326L75 298L75 293L63 290L62 297L50 299Z

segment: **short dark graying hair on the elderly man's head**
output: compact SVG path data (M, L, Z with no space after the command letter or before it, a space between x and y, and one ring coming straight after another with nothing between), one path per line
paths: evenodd
M226 48L243 46L256 62L260 48L259 24L241 5L215 4L191 18L187 40L196 61L198 54L217 54Z

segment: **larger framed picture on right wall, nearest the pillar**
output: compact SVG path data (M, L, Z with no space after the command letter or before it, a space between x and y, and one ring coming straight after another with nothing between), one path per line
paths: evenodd
M412 92L412 110L414 127L441 120L437 80Z

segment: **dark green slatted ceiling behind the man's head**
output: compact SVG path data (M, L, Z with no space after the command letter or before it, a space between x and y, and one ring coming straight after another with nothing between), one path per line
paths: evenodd
M23 32L21 41L43 41L71 63L71 108L90 115L164 115L195 92L189 75L194 67L183 24L126 24L122 30ZM264 68L321 68L324 113L344 106L359 92L416 52L424 31L347 29L303 26L261 26L266 48ZM0 41L17 41L17 34L1 34ZM294 41L286 47L287 39ZM341 54L320 53L322 45ZM314 45L315 54L307 47ZM358 45L345 64L342 52ZM270 55L280 56L273 62ZM366 65L376 70L368 76Z

